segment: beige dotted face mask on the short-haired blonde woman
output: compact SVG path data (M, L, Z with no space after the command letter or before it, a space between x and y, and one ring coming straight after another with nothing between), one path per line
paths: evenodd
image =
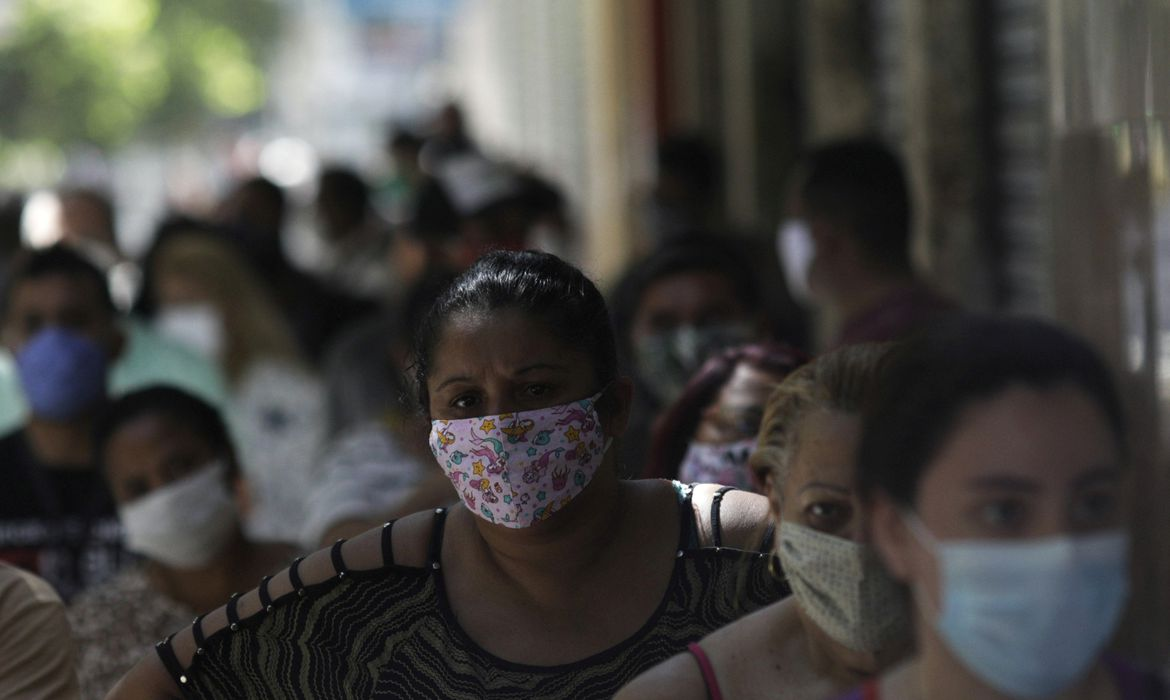
M840 644L862 652L910 638L910 605L867 544L784 521L777 555L808 618Z

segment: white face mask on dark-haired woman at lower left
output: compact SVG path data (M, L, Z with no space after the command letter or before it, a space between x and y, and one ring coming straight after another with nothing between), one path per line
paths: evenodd
M239 522L226 472L212 462L118 508L126 549L177 569L211 562Z

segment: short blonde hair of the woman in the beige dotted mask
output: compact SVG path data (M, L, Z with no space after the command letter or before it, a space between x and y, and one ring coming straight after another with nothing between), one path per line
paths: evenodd
M792 457L799 448L800 423L815 411L860 414L873 399L892 343L847 345L827 352L789 375L764 406L753 472L772 473L772 496L779 497Z

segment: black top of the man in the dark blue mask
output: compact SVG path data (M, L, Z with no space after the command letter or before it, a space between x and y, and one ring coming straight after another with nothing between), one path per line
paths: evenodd
M0 561L41 576L66 602L129 560L92 466L47 465L18 430L0 438Z

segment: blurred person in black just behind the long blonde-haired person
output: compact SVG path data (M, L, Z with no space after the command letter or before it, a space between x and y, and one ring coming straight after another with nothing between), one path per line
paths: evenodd
M266 178L254 177L228 193L215 222L225 227L256 279L268 288L301 351L311 362L319 362L340 329L372 313L377 304L321 283L292 265L284 249L287 210L284 191ZM191 226L188 221L171 224L164 222L156 246L170 229L181 232Z

